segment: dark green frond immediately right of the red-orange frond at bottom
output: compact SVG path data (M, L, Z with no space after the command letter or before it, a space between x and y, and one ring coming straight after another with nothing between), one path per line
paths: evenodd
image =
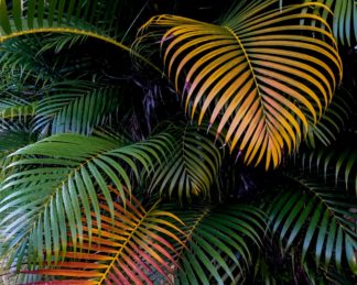
M166 208L169 207L169 208ZM251 263L252 248L261 245L266 218L247 205L194 206L177 210L186 248L177 254L177 284L228 284L241 278Z

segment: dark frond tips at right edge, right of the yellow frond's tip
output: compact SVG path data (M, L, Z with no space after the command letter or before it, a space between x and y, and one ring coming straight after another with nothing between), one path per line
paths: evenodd
M310 172L322 174L325 180L334 177L335 184L340 180L346 189L355 191L357 196L357 150L345 147L322 149L320 151L304 152L301 157L301 166ZM296 164L299 166L299 163Z

